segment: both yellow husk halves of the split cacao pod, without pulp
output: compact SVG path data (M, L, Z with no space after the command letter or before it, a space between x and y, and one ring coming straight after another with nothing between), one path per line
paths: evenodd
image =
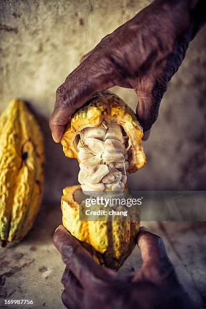
M130 141L127 172L134 173L146 160L141 138L142 128L134 112L117 95L105 91L91 97L70 119L62 137L63 151L69 158L78 158L78 138L81 130L106 124L118 124ZM101 164L101 163L100 163ZM94 260L118 269L132 252L139 231L140 219L135 221L80 221L78 195L81 186L66 187L62 196L63 225L81 241Z

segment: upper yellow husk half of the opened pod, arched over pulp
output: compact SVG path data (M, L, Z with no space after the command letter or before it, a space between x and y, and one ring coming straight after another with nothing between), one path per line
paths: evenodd
M127 172L134 173L146 163L141 139L142 127L133 110L116 94L109 91L91 97L70 119L70 123L61 139L63 151L68 158L78 161L76 137L88 127L98 127L103 122L116 123L123 127L132 145L129 153ZM79 161L80 162L80 161Z

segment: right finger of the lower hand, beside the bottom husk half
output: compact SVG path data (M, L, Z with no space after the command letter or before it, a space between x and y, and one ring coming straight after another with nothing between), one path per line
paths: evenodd
M146 278L156 283L177 281L176 273L170 262L163 239L141 227L137 235L137 245L141 251L143 266L135 275L134 281Z

